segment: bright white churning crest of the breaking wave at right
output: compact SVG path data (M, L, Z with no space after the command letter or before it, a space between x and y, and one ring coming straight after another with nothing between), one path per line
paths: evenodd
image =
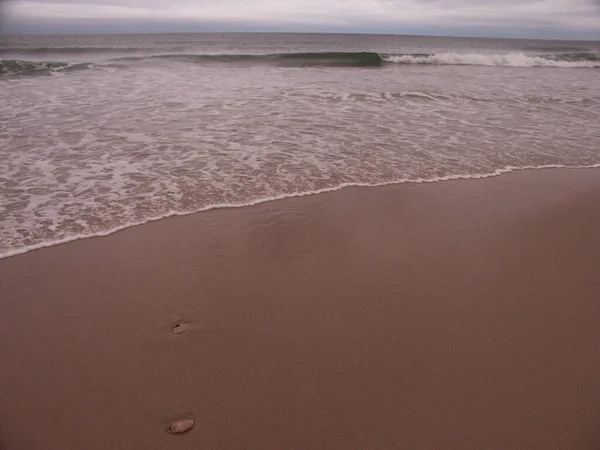
M390 55L385 61L398 64L506 66L506 67L561 67L597 68L599 61L556 61L524 53L481 54L444 52L433 55Z

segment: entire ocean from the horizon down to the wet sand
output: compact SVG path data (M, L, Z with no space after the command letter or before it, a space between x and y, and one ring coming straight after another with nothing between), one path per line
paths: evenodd
M345 186L600 167L600 42L36 35L0 59L0 257Z

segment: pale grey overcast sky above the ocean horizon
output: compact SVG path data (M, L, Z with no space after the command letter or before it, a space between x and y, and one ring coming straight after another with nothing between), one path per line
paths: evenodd
M600 0L7 0L2 6L8 32L306 31L600 39Z

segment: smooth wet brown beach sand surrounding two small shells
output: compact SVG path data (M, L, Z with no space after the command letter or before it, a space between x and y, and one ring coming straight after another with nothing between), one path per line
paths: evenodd
M173 218L0 282L5 450L600 448L598 170Z

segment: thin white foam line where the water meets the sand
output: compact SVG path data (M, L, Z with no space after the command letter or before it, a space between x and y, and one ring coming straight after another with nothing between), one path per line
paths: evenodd
M78 241L81 239L108 237L112 234L119 233L119 232L127 230L129 228L139 227L139 226L146 225L146 224L149 224L152 222L157 222L160 220L170 219L173 217L185 217L185 216L200 214L200 213L209 212L209 211L213 211L213 210L246 208L246 207L261 205L263 203L276 202L276 201L281 201L281 200L286 200L286 199L302 198L302 197L307 197L307 196L312 196L312 195L328 194L328 193L337 192L337 191L347 189L347 188L379 188L379 187L387 187L387 186L397 186L397 185L399 186L399 185L404 185L404 184L423 184L423 183L429 184L429 183L443 183L443 182L447 182L447 181L484 180L487 178L494 178L494 177L499 177L502 175L508 175L508 174L511 174L514 172L531 171L531 170L555 170L555 169L559 169L559 170L562 170L562 169L567 169L567 170L600 169L600 163L586 165L586 166L563 166L560 164L546 164L546 165L542 165L542 166L523 166L523 167L507 166L502 169L496 169L494 172L484 173L481 175L449 175L446 177L438 177L438 178L432 178L432 179L423 179L423 178L402 179L402 180L398 180L398 181L390 181L390 182L384 182L384 183L379 183L379 184L344 183L344 184L341 184L341 185L338 185L335 187L331 187L331 188L323 188L323 189L318 189L316 191L297 192L297 193L293 193L293 194L281 194L281 195L278 195L275 197L268 197L268 198L263 198L263 199L259 199L259 200L249 201L247 203L214 204L214 205L208 205L206 207L202 207L200 209L193 210L193 211L181 211L181 212L171 211L171 212L166 213L159 217L150 217L148 219L143 220L142 222L121 225L121 226L118 226L116 228L111 228L106 231L92 232L90 234L77 235L77 236L73 236L73 237L67 237L67 238L58 239L58 240L54 240L54 241L42 242L39 244L33 244L30 246L26 246L26 247L14 249L14 250L9 250L4 254L0 254L0 261L3 259L8 259L8 258L12 258L15 256L23 255L26 253L30 253L30 252L33 252L36 250L55 247L57 245L68 244L70 242Z

